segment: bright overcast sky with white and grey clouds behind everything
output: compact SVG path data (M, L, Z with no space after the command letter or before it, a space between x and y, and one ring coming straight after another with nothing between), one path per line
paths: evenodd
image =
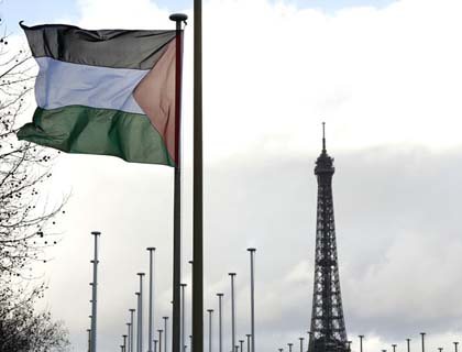
M186 0L4 0L0 9L9 31L24 42L19 20L173 29L168 14L191 18L191 7ZM391 350L392 343L404 351L406 338L420 349L420 331L429 333L429 351L452 351L452 341L462 339L460 33L460 0L205 1L205 308L217 309L216 293L224 293L226 331L227 274L237 272L239 338L250 332L245 249L253 245L258 350L307 337L314 163L326 121L353 349L360 333L367 351ZM190 19L183 116L188 287L191 40ZM99 351L119 349L128 309L135 306L135 273L147 271L146 246L157 248L158 328L160 318L170 316L173 170L61 155L52 188L52 199L69 193L72 198L57 220L63 235L50 252L53 261L38 268L50 283L43 304L66 322L75 351L86 349L89 327L91 230L102 231Z

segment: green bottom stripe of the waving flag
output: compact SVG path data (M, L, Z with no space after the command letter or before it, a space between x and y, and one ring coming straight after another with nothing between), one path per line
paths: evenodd
M127 162L175 166L148 118L111 109L37 108L18 139L67 153L112 155Z

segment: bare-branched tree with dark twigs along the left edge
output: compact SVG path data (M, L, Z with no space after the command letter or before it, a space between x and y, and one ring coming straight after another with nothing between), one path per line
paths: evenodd
M51 227L65 200L51 206L40 193L54 155L15 138L34 75L30 55L11 55L8 47L8 36L0 36L0 351L58 351L68 344L67 332L48 312L34 310L46 287L33 286L30 276L56 244Z

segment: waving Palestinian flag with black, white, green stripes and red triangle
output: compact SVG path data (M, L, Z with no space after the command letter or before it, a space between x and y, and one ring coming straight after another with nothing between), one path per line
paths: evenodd
M20 140L175 166L175 31L21 26L40 70Z

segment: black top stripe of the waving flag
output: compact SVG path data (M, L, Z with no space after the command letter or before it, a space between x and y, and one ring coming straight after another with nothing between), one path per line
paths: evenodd
M153 68L176 35L175 31L87 31L66 24L20 25L34 57L112 68Z

